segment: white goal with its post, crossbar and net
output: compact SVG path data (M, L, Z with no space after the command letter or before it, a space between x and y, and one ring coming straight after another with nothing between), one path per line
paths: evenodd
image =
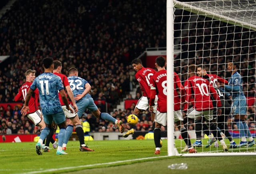
M238 72L242 76L243 91L247 98L255 100L255 55L256 55L256 2L253 0L215 0L200 2L179 2L167 0L167 103L168 103L168 156L240 156L256 155L256 146L229 148L223 152L214 144L206 148L207 136L202 132L202 147L196 147L195 154L182 152L186 146L184 140L174 140L173 121L173 72L180 75L182 84L187 79L187 68L190 64L205 65L208 74L215 74L228 80L231 76L227 71L228 61L239 62ZM178 57L173 58L175 50ZM171 103L171 104L170 104ZM253 102L254 103L254 102ZM171 107L172 105L172 107ZM245 122L250 127L255 125L255 103L248 106ZM187 118L186 118L187 119ZM248 120L248 121L247 121ZM194 121L186 120L191 143L196 138ZM234 122L234 115L226 115L226 131L229 131L236 144L241 137ZM253 139L255 129L251 129ZM246 131L245 131L246 132ZM206 138L203 138L203 137ZM171 138L169 138L171 137ZM179 138L179 137L176 137ZM246 138L248 141L248 138ZM230 146L228 137L224 138ZM217 144L216 144L217 145Z

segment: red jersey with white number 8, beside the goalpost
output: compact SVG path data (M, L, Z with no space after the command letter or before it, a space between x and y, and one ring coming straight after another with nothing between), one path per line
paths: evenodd
M167 78L166 70L156 72L150 79L151 95L149 105L154 105L155 95L158 96L157 110L161 113L167 112Z

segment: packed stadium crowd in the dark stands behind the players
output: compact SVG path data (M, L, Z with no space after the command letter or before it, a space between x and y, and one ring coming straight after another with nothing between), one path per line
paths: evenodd
M0 19L0 40L0 55L10 55L0 69L0 103L14 102L25 81L26 70L36 70L38 76L43 72L40 62L49 56L62 61L65 75L70 67L76 67L79 76L92 86L92 98L106 101L110 112L137 84L132 59L147 47L166 47L166 1L18 0ZM200 51L197 56L192 60L197 64L214 62L217 57L210 58ZM195 57L195 53L189 57ZM225 55L218 57L222 66L218 69L211 66L209 70L224 70L225 60ZM248 96L255 96L255 57L243 57L243 60L241 75L248 76L244 79L248 82L244 91L248 91ZM175 63L175 71L184 81L188 61ZM247 71L246 67L250 66L252 70ZM222 71L218 75L223 77ZM138 99L141 91L136 93ZM40 127L34 127L28 117L22 116L20 108L18 105L6 110L0 107L0 134L39 132ZM98 108L105 109L102 104ZM124 111L116 110L112 116L120 118L128 130L130 125L125 118L133 109L134 105ZM255 108L250 107L248 113L254 128ZM97 120L89 112L84 115L91 131L118 131L112 123ZM140 114L139 119L134 129L152 129L148 111ZM194 129L192 123L188 129Z

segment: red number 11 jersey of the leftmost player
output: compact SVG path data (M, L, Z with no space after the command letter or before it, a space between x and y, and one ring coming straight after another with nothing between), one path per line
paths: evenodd
M26 81L26 83L24 83L20 87L18 94L14 97L14 101L20 101L22 99L25 101L28 89L30 88L31 85L32 85L32 82ZM34 93L32 94L28 102L29 113L34 113L38 110L38 99L39 99L39 92L38 92L38 89L36 88L36 90L34 90Z

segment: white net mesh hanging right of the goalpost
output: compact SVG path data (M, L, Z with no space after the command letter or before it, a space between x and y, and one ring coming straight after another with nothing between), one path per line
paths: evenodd
M229 61L238 62L238 73L242 76L242 89L247 99L245 121L254 140L255 136L255 55L256 55L256 2L252 0L218 0L201 2L178 2L174 0L174 71L178 73L182 84L188 78L188 66L191 64L206 66L208 74L218 75L222 79L229 80L232 76L227 71ZM210 77L211 78L211 77ZM218 83L216 83L218 84ZM227 92L227 91L226 91ZM229 91L232 96L232 91ZM228 102L228 101L226 101ZM234 103L233 100L230 104ZM190 106L194 105L193 101ZM224 110L223 110L224 111ZM223 113L222 111L222 113ZM239 118L226 113L219 119L218 126L226 135L224 142L229 147L230 141L240 144L243 134L238 123ZM223 152L222 143L217 141L207 147L209 128L203 128L200 121L201 147L195 147L198 152ZM191 143L196 139L194 119L185 118ZM221 126L220 126L221 125ZM252 138L248 137L244 124L244 132L247 145L229 148L228 152L255 152L255 145L248 145ZM206 129L203 131L203 129ZM227 133L230 137L227 137ZM178 130L177 130L178 132ZM219 131L220 132L220 131ZM247 133L247 134L246 134ZM223 137L225 137L222 134ZM181 138L181 137L177 137ZM211 135L210 135L210 139ZM217 145L218 144L218 145ZM176 140L176 148L179 153L186 146L183 140ZM242 154L242 153L240 153Z

